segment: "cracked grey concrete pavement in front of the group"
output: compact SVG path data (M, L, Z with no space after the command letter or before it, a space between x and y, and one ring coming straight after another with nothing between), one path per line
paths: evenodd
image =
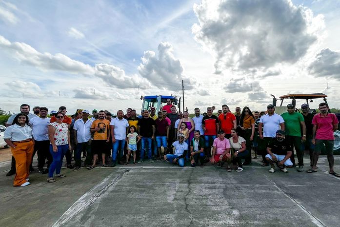
M0 163L0 170L9 164ZM0 226L339 226L340 179L328 174L326 157L320 157L317 173L268 170L259 161L240 173L144 162L63 168L67 177L55 183L34 172L26 187L13 187L13 177L2 171Z

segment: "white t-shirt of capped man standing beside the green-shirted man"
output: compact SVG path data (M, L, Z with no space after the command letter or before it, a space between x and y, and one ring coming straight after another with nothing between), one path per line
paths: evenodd
M272 116L268 114L260 118L260 123L263 124L263 137L276 137L276 131L280 129L280 124L284 123L283 118L274 113Z

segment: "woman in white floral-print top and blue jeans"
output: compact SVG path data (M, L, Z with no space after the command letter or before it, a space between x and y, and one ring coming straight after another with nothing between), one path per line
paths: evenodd
M62 123L64 116L62 113L56 114L56 122L50 123L48 125L48 137L50 139L50 153L53 157L53 162L48 169L47 182L52 183L56 180L53 178L54 170L56 170L55 177L65 177L65 175L60 174L62 160L68 149L71 149L70 145L70 131L68 130L68 125Z

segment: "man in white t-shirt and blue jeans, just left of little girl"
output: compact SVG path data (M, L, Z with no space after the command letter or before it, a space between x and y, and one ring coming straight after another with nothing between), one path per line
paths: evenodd
M111 120L110 132L112 137L112 163L111 167L116 165L118 151L120 153L119 163L123 164L125 138L129 130L129 123L123 118L124 112L117 111L117 118Z

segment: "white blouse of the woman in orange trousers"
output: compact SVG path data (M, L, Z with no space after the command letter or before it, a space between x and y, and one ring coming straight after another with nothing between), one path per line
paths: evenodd
M28 124L23 127L18 124L12 124L6 128L3 139L10 139L11 141L32 139L32 128Z

